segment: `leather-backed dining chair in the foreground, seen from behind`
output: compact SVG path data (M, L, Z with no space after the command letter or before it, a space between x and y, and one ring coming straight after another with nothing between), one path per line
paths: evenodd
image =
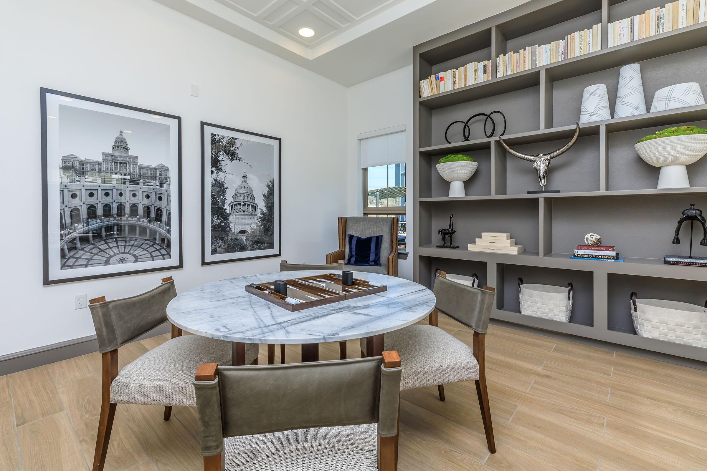
M400 371L397 352L202 364L194 390L204 471L397 470Z

